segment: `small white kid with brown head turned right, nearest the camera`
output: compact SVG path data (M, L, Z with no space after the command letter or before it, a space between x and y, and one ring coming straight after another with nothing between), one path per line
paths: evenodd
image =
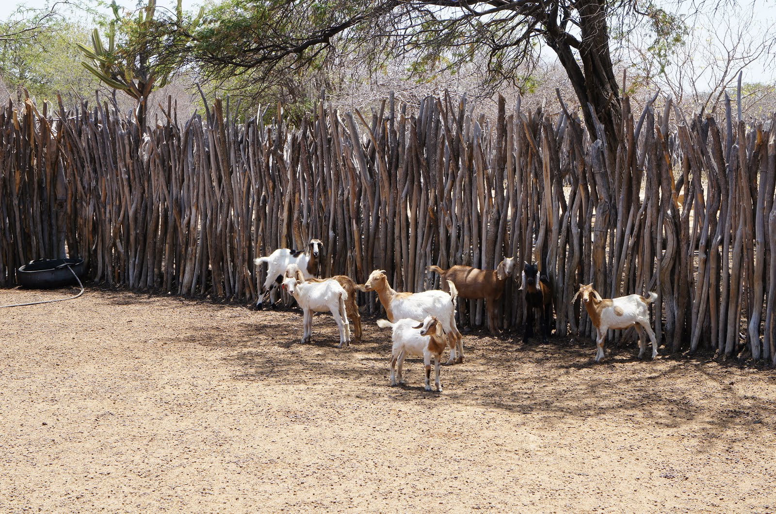
M442 382L439 381L439 364L442 362L442 352L447 346L445 329L435 316L426 316L418 325L414 319L400 319L390 323L387 319L378 319L377 326L386 329L393 327L393 348L390 357L390 385L402 384L401 371L405 357L423 357L426 369L425 388L431 391L431 357L434 358L434 372L437 391L442 392ZM399 363L398 381L396 364Z

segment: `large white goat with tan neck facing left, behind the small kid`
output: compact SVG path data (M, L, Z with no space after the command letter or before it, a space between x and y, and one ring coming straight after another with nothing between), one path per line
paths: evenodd
M458 290L452 282L449 293L445 291L423 291L420 293L400 293L393 291L388 285L385 270L375 270L364 284L365 291L376 291L380 303L386 309L386 316L391 323L402 318L422 321L426 316L436 316L448 338L450 359L447 364L463 362L463 337L456 327L456 297ZM456 350L459 354L456 358Z

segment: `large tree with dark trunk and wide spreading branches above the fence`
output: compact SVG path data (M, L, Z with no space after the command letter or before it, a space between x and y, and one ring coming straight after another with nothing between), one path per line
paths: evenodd
M210 80L279 78L348 54L372 67L404 59L418 76L481 61L491 87L519 86L529 76L526 67L549 48L570 78L587 126L596 133L598 124L616 139L620 91L610 45L617 41L609 25L615 22L622 37L645 19L656 40L669 39L677 22L632 0L227 0L188 35L195 42L192 62Z

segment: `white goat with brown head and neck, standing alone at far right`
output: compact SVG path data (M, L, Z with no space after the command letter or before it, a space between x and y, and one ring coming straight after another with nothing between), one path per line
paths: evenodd
M618 298L603 299L593 288L593 284L582 285L577 294L571 300L571 303L577 301L577 296L582 297L582 303L587 309L587 316L595 326L597 331L596 345L598 350L595 352L595 361L601 362L604 358L604 343L608 329L627 329L636 328L639 333L639 359L644 357L646 350L646 339L644 331L650 336L652 341L652 358L657 357L657 342L655 333L650 326L650 303L657 299L657 294L650 292L648 297L642 295L627 295Z

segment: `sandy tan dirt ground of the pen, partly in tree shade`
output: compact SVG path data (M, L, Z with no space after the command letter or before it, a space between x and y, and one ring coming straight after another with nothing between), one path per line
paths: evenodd
M68 291L0 291L0 305ZM776 512L776 374L88 288L0 310L0 512ZM661 352L664 350L661 348Z

